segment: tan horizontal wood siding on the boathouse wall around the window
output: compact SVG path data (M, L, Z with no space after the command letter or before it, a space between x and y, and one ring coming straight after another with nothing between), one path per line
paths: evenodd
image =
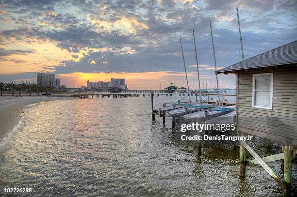
M273 73L272 109L252 107L252 75ZM297 139L297 67L238 72L238 126Z

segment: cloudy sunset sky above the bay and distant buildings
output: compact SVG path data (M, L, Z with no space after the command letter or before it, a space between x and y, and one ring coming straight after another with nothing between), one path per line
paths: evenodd
M0 81L36 83L54 73L67 87L126 78L129 89L216 85L217 68L297 40L297 0L0 0ZM218 75L220 88L235 76Z

